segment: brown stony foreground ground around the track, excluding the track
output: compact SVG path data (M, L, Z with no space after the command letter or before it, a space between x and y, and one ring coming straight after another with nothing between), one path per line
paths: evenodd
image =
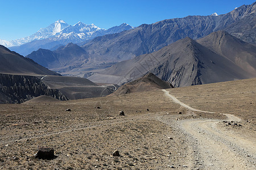
M174 88L170 93L198 109L240 116L246 124L242 133L251 133L255 128L255 82ZM67 108L71 112L65 112ZM126 116L118 116L119 111ZM184 115L186 112L160 90L54 103L3 104L0 169L179 168L193 159L192 150L179 131L158 117L168 113L174 119L192 118ZM193 117L223 118L206 113ZM39 146L53 147L58 157L33 159ZM121 157L112 156L115 150Z

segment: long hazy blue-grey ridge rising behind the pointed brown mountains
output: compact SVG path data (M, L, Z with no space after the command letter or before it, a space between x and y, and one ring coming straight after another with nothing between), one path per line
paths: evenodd
M256 2L223 15L187 16L142 24L129 31L96 37L83 47L91 56L122 61L152 53L185 37L199 39L221 29L226 29L241 40L255 42L255 12ZM251 26L247 26L243 19L250 19ZM236 27L233 28L232 24ZM247 37L249 33L250 37Z

